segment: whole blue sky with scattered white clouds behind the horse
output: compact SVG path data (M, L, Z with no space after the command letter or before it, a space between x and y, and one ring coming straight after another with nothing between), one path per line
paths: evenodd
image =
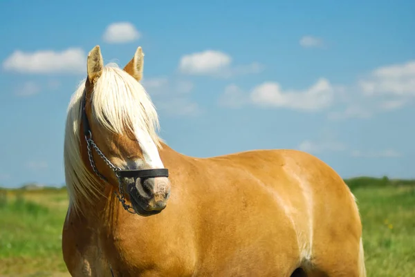
M64 184L66 107L99 44L145 52L160 135L208 157L301 149L415 178L414 1L1 1L0 185Z

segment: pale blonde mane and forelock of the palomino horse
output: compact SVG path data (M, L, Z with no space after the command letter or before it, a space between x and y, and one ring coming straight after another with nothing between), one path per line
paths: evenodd
M81 102L85 90L85 79L75 90L68 105L64 140L64 169L69 207L80 211L80 197L93 203L93 198L102 195L102 183L91 174L82 161L80 140L84 134L80 129ZM125 134L127 129L134 133L138 128L147 132L158 148L160 137L156 108L145 89L127 72L116 64L109 64L102 70L96 82L92 97L94 124L107 130ZM92 122L91 122L92 124ZM71 209L69 209L70 211Z

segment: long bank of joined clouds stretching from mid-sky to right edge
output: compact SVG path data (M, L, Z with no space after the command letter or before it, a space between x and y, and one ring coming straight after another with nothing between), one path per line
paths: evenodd
M264 82L244 92L235 84L225 88L219 106L255 104L297 111L328 110L329 120L369 119L415 103L415 61L382 66L352 84L331 84L320 78L310 88L284 90L278 82Z

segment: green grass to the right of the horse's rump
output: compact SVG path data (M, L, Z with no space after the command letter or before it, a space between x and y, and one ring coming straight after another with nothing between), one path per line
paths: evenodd
M358 199L368 276L415 274L415 181L359 178Z

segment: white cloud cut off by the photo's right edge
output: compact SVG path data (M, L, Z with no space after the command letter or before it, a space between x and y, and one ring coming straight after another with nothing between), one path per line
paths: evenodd
M365 95L415 96L415 61L382 66L359 81Z

